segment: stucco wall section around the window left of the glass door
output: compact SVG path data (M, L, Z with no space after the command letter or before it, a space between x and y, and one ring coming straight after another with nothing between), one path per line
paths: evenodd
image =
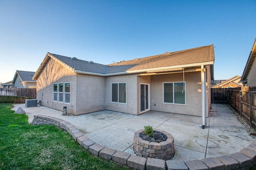
M111 83L126 82L126 104L111 102ZM118 75L106 77L105 109L137 115L137 76Z

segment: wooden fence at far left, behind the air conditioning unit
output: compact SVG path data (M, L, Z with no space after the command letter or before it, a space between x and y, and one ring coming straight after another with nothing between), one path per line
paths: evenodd
M33 97L36 99L36 88L0 88L0 96Z

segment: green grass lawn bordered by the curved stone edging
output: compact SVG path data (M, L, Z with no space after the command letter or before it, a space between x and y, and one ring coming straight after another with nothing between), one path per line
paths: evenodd
M30 125L28 116L14 114L12 107L0 103L1 170L132 169L90 154L58 127Z

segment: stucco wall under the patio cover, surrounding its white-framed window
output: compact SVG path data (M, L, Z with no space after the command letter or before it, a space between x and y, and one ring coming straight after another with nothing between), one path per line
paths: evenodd
M151 105L153 111L202 115L201 73L184 73L186 82L186 105L163 103L163 82L183 82L183 73L151 75Z

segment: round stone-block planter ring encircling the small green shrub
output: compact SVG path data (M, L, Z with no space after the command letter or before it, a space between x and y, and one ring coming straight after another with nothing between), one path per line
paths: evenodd
M144 129L134 132L134 152L136 155L144 158L158 158L162 160L170 160L174 154L174 138L173 136L160 129L154 129L156 131L162 132L167 136L167 139L162 142L148 142L140 138L140 132Z

